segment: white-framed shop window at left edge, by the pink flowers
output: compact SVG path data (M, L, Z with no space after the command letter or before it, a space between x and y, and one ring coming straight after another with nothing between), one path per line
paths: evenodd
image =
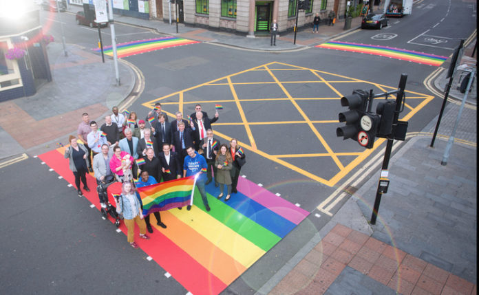
M21 86L20 70L17 60L6 58L10 41L0 40L0 91Z

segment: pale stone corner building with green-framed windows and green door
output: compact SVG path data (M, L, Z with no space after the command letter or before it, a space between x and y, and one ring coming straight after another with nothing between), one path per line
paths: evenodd
M156 14L151 14L151 18L169 21L171 10L175 19L176 5L170 8L167 0L150 2L154 3L151 7L162 6ZM310 0L308 10L297 10L297 0L179 0L178 12L180 23L254 36L268 33L274 19L277 20L279 32L293 30L296 13L299 28L309 26L316 13L321 19L327 19L328 13L334 10L339 18L343 18L346 3L346 0Z

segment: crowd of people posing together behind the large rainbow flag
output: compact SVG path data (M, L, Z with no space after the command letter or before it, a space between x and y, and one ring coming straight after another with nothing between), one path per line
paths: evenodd
M147 113L146 121L138 120L135 112L125 110L125 115L119 113L118 107L113 107L112 112L105 117L100 128L97 122L89 120L88 113L83 113L77 132L83 144L70 135L65 158L70 160L78 196L83 195L81 183L83 190L90 191L85 176L88 172L94 172L97 184L114 179L123 182L122 194L115 199L116 211L123 214L128 229L127 240L132 247L138 248L134 242L135 222L140 228L140 238L149 239L146 231L153 232L149 216L142 215L142 202L136 187L198 174L196 186L207 211L211 208L205 186L213 179L215 186L220 186L217 199L226 195L224 200L228 201L231 194L237 193L238 177L246 162L245 154L235 138L229 144L221 144L214 137L211 124L219 118L217 111L210 118L202 111L201 105L195 105L188 120L178 111L172 122L162 111L160 103ZM150 127L146 127L146 122ZM100 205L106 208L107 199L100 197ZM187 206L187 210L190 209L191 206ZM154 215L157 225L166 228L160 213Z

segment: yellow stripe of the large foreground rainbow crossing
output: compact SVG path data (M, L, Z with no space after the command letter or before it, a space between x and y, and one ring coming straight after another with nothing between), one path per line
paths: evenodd
M206 237L217 248L234 257L244 267L250 267L259 257L266 253L257 245L237 234L237 232L217 221L217 219L214 219L200 208L191 206L190 214L184 214L182 211L169 210L175 217L191 226L203 237Z

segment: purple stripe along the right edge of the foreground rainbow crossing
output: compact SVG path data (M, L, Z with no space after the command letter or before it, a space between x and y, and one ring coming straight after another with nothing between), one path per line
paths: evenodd
M296 225L310 214L310 212L295 206L295 204L291 204L289 201L278 197L269 190L266 190L266 188L262 188L246 178L240 177L237 187L240 188L244 195L253 199L253 201L256 201L258 204L261 204Z

